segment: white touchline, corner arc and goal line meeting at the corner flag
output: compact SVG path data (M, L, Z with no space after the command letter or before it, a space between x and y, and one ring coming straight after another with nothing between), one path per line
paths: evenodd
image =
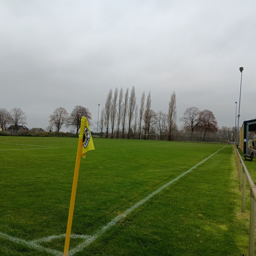
M227 145L225 145L223 148L226 148ZM218 151L216 151L215 153L211 154L209 157L205 158L204 160L202 160L200 163L196 164L195 166L193 166L191 169L189 169L186 172L183 172L181 175L179 175L178 177L176 177L175 179L169 181L168 183L164 184L163 186L161 186L159 189L155 190L154 192L152 192L150 195L148 195L147 197L145 197L144 199L142 199L141 201L139 201L138 203L134 204L134 206L128 208L125 212L121 213L120 215L116 216L115 218L113 218L110 222L108 222L108 224L106 224L104 227L102 227L100 230L96 231L94 233L94 235L92 236L87 236L87 235L76 235L76 234L71 234L71 238L81 238L84 239L84 242L81 242L81 244L79 244L78 246L76 246L75 248L69 250L68 255L69 256L73 256L76 253L78 253L79 251L83 250L84 247L89 246L91 243L93 243L93 241L95 241L99 236L101 236L103 233L105 233L109 228L113 227L117 222L119 222L122 218L125 218L126 215L128 215L129 213L131 213L133 210L137 209L139 206L141 206L142 204L144 204L146 201L148 201L150 198L152 198L154 195L156 195L157 193L159 193L160 191L162 191L163 189L165 189L167 186L171 185L172 183L174 183L175 181L179 180L181 177L183 177L184 175L186 175L187 173L191 172L193 169L195 169L197 166L201 165L202 163L204 163L205 161L207 161L209 158L211 158L212 156L214 156L215 154L217 154L219 151L221 151L223 148L219 149ZM40 245L41 242L47 242L47 241L51 241L52 239L58 239L58 238L65 238L66 234L61 234L58 236L48 236L42 239L36 239L33 241L25 241L23 239L19 239L16 237L12 237L9 236L5 233L1 233L0 232L0 237L8 239L10 241L16 242L16 243L20 243L20 244L25 244L27 246L29 246L30 248L34 248L37 249L39 251L46 251L48 253L51 253L54 256L62 256L63 252L57 251L57 250L52 250L52 249L48 249L45 248L43 246Z

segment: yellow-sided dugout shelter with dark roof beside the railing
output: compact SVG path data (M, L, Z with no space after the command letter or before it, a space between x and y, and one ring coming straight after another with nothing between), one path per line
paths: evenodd
M249 131L256 131L256 119L244 121L239 133L239 148L244 154L248 154Z

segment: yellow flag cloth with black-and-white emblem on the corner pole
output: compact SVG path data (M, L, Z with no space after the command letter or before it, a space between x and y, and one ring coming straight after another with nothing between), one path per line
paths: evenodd
M79 138L83 138L83 146L82 146L82 157L85 158L85 153L89 150L93 150L93 138L90 134L90 127L86 117L81 117L81 126Z

